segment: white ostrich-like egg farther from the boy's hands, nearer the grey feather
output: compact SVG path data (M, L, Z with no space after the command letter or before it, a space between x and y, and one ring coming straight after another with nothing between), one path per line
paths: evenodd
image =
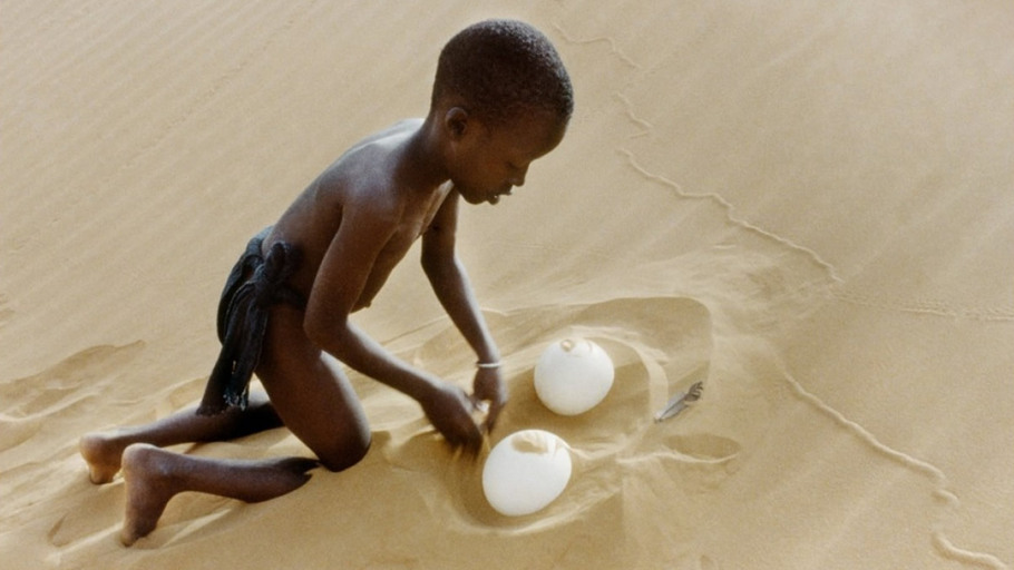
M587 338L565 338L543 351L535 365L535 393L549 410L576 415L602 402L615 374L602 346Z

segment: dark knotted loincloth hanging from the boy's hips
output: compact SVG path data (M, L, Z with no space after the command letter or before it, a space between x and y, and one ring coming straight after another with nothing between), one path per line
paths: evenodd
M215 415L231 406L246 409L250 379L261 360L271 306L306 306L303 296L286 283L299 267L299 249L276 242L266 256L261 255L261 244L270 232L271 227L264 228L246 244L246 252L225 282L218 302L222 351L197 407L201 415Z

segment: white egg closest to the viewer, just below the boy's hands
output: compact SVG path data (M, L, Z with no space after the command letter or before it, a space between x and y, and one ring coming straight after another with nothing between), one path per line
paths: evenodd
M544 509L571 480L571 452L558 435L521 430L500 440L482 468L482 492L500 514L521 517Z

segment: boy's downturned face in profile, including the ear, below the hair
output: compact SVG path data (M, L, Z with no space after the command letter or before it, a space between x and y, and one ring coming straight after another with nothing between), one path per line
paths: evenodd
M456 141L451 181L469 204L496 204L525 184L528 165L559 145L566 122L535 112L504 125L470 118Z

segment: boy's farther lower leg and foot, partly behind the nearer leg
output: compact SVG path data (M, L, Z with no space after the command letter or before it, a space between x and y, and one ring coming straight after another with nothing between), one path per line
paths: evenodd
M92 483L108 483L120 469L124 450L134 443L159 448L178 443L225 441L280 428L281 419L266 394L252 392L246 410L231 409L218 415L197 415L191 406L167 417L81 438L81 456L88 462Z

